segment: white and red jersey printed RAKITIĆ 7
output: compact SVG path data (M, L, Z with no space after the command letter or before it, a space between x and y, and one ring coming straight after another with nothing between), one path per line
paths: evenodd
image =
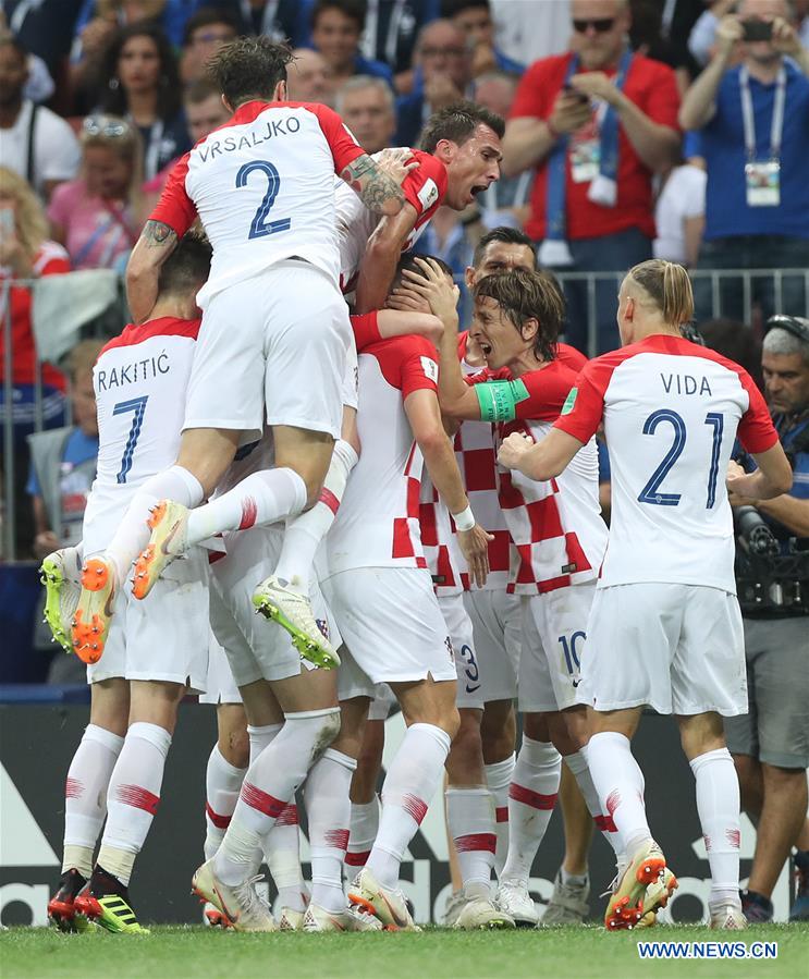
M84 514L84 547L107 547L135 491L174 464L199 320L164 316L128 326L93 369L98 467Z

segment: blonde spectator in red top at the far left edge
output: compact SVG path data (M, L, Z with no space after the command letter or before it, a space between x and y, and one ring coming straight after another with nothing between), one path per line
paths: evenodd
M0 281L37 279L70 271L68 253L48 238L48 220L27 181L8 167L0 167ZM12 285L9 291L11 318L11 358L5 343L0 344L0 420L4 417L5 371L11 371L14 423L14 511L16 553L29 553L34 539L30 506L25 495L28 472L26 437L36 421L37 354L32 327L30 289ZM61 425L64 414L64 378L51 365L44 364L42 424Z

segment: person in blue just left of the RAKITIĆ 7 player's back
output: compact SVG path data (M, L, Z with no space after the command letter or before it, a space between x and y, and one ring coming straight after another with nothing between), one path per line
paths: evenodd
M102 340L83 340L68 356L73 425L28 436L32 465L26 489L34 510L36 558L82 539L84 509L96 478L98 420L93 367L102 346Z

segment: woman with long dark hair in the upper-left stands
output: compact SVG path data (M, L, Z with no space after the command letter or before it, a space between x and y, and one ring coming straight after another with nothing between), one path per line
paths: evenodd
M100 111L123 115L140 133L146 180L191 149L174 52L159 27L120 30L105 53L100 85Z

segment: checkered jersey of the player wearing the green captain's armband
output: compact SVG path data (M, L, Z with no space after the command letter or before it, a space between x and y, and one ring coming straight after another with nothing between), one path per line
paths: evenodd
M502 371L483 371L470 383L504 379ZM513 431L539 442L559 417L576 382L561 360L522 375L525 396L513 421L495 425L497 443ZM514 541L508 591L537 595L588 582L598 575L606 547L606 525L598 498L598 453L595 438L557 478L547 482L499 467L499 499ZM516 552L516 553L515 553Z

